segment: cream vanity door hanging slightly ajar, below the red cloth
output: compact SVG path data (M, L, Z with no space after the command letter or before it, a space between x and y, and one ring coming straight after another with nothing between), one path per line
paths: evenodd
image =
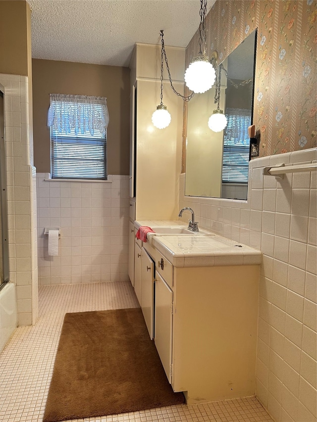
M141 308L152 340L154 331L154 262L144 248L141 250Z

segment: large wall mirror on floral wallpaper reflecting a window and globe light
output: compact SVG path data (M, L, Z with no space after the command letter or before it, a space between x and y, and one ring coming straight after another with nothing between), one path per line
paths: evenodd
M228 120L223 131L216 133L208 127L217 107L215 86L204 94L195 94L188 103L187 196L247 199L256 43L257 30L222 62L219 106Z

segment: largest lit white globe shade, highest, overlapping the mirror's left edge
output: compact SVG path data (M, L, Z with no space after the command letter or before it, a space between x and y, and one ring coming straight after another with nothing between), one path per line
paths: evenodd
M216 73L208 56L196 57L185 72L185 83L195 94L210 90L215 78Z

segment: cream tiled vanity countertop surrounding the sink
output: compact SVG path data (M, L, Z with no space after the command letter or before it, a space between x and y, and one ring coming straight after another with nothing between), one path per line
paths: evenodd
M178 221L139 221L136 227L184 226ZM152 246L175 267L259 265L262 252L204 230L200 234L148 234Z

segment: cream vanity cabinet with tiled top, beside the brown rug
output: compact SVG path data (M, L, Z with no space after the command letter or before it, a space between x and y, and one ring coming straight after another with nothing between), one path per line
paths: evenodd
M206 252L207 243L223 249ZM236 246L212 234L154 235L142 245L140 304L188 404L255 394L261 252Z

